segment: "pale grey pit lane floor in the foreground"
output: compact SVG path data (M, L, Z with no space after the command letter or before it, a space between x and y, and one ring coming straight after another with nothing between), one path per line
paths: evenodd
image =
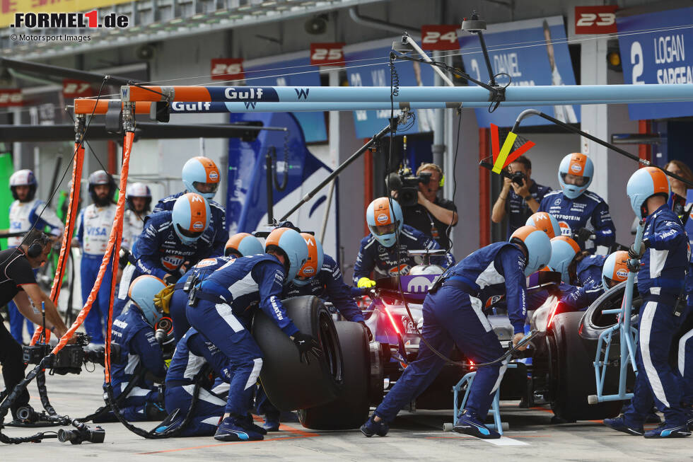
M80 375L48 376L49 399L60 414L81 417L103 404L103 368ZM29 387L31 404L40 410L35 383ZM299 424L268 434L265 441L223 443L211 437L147 440L129 432L120 423L103 424L103 444L75 446L45 439L41 444L0 444L0 461L210 461L231 458L273 458L289 461L413 461L473 460L517 461L691 461L693 437L652 440L629 437L603 427L600 422L552 425L547 408L518 409L516 403L501 403L503 421L510 429L499 440L481 440L441 431L452 420L451 411L401 412L385 438L363 437L359 430L318 432ZM91 424L90 424L91 425ZM155 422L140 422L151 429ZM652 426L650 426L652 427ZM71 428L71 427L63 427ZM45 430L57 430L57 427ZM6 427L11 437L28 436L36 429Z

